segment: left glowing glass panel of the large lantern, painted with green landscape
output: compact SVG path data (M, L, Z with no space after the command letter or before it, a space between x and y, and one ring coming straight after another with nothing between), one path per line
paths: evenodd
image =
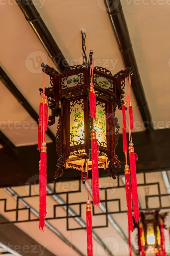
M83 99L70 101L70 146L84 143Z

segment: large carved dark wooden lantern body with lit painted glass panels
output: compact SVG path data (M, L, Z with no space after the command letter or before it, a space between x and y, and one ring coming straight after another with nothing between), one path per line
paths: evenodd
M90 62L92 52L90 52ZM49 125L59 116L56 134L57 170L55 178L61 177L65 168L82 172L85 182L87 170L91 170L90 133L92 120L89 114L89 63L74 65L59 74L54 68L42 63L42 71L50 76L49 88L45 88L48 106L51 109ZM115 154L119 137L118 120L112 114L123 102L125 78L132 73L126 68L112 75L102 67L93 68L93 84L96 94L97 121L94 127L98 139L99 168L115 177L114 167L121 167ZM42 89L40 89L42 91Z

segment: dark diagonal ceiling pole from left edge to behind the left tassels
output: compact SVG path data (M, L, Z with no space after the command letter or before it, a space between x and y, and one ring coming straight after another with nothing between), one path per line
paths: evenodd
M38 122L38 114L36 111L31 107L29 102L26 100L26 98L21 94L21 92L16 88L15 84L11 81L11 79L8 77L8 75L5 73L5 71L0 66L0 80L2 83L6 86L6 88L14 95L14 97L17 99L17 101L25 108L25 110L30 114L30 116ZM38 93L38 92L37 92ZM48 136L55 141L54 134L47 129Z

